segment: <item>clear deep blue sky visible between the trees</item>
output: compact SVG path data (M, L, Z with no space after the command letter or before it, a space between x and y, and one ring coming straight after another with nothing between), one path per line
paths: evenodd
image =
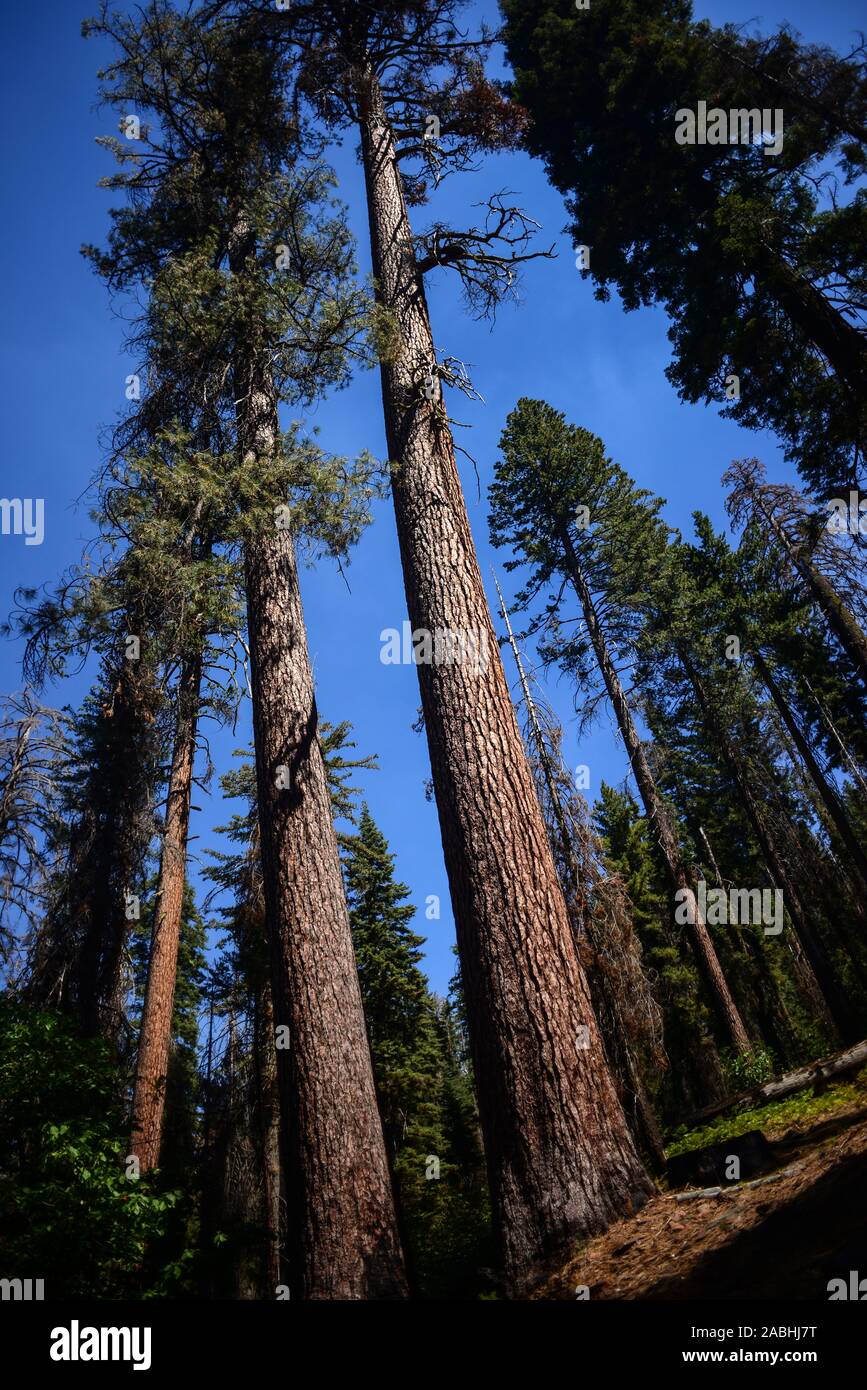
M496 19L495 0L478 0L470 10ZM46 506L42 546L0 535L0 613L6 613L17 585L56 578L92 537L78 499L100 463L100 431L124 409L124 378L132 363L121 352L122 324L79 256L82 242L101 243L106 236L113 195L96 183L113 161L94 138L111 133L115 122L113 113L94 110L94 74L106 50L79 38L81 19L90 13L88 0L0 0L0 13L1 186L7 200L0 221L0 381L7 435L0 495L44 498ZM863 24L854 0L823 6L774 0L760 10L752 0L696 0L696 14L718 24L754 19L763 31L788 19L806 39L841 50L850 44L859 21ZM353 140L336 152L335 165L367 272L367 221ZM521 306L506 307L490 331L465 317L457 285L445 272L429 278L436 345L472 364L485 398L485 404L457 399L452 413L472 425L459 434L459 442L478 460L481 498L471 464L464 460L461 471L489 594L489 567L492 562L502 564L502 556L488 545L485 491L500 430L520 395L543 398L602 435L614 459L667 499L667 520L686 532L696 507L717 525L724 524L720 475L731 459L757 453L771 477L791 477L771 436L721 420L716 407L678 402L663 375L670 350L661 313L624 314L614 300L596 303L591 285L574 268L563 235L563 203L539 164L524 156L500 156L486 161L481 174L446 181L434 203L417 211L415 227L434 218L467 225L474 217L471 204L500 189L520 195L521 204L543 224L543 238L556 242L560 253L556 261L528 268ZM360 375L349 391L318 409L315 423L325 448L338 453L368 448L383 457L378 375ZM410 727L420 703L417 674L413 667L379 662L381 630L400 628L406 619L390 503L379 506L353 556L349 581L352 592L327 564L302 575L320 712L332 721L352 720L358 749L379 753L381 770L364 774L367 799L418 908L417 927L428 938L432 986L445 991L454 935L436 810L424 796L429 777L425 741ZM17 642L0 644L1 691L21 687L19 657ZM509 657L507 663L513 680ZM49 688L43 698L56 705L76 702L88 674ZM602 780L622 781L625 762L609 716L579 745L567 684L554 681L547 698L564 720L570 763L591 769L591 798ZM207 734L211 756L224 770L232 749L249 741L249 709L236 735L214 727ZM196 801L201 809L192 828L197 837L192 844L193 878L203 849L218 844L213 827L229 815L218 795ZM440 897L439 922L424 919L429 894Z

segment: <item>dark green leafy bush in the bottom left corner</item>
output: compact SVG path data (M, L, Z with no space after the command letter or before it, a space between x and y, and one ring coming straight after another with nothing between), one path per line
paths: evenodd
M126 1176L129 1122L107 1045L0 1002L0 1264L46 1294L122 1298L149 1282L176 1191Z

